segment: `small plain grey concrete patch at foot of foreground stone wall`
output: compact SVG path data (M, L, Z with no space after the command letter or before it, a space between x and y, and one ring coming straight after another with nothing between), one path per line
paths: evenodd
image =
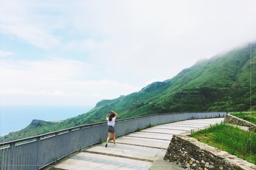
M168 169L170 169L170 170L184 170L180 166L178 166L174 163L171 163L171 162L167 162L163 158L155 160L153 162L153 164L151 165L151 167L149 168L149 170L168 170Z

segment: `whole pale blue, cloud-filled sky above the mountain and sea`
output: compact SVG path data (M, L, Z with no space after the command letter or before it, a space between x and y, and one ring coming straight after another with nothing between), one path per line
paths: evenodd
M2 1L0 104L95 106L256 40L254 1Z

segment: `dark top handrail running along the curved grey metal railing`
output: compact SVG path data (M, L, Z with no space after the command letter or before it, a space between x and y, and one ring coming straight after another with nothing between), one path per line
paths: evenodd
M223 111L216 111L216 112L223 112ZM212 112L175 112L175 113L150 114L150 115L143 115L143 116L138 116L138 117L133 117L133 118L126 118L126 119L119 119L119 120L116 119L116 123L118 123L120 121L124 121L124 120L133 120L133 119L138 119L138 118L151 117L151 116L155 116L155 115L177 114L177 113L212 113ZM89 126L101 125L103 123L107 123L107 121L92 123L92 124L86 124L86 125L80 125L80 126L75 126L75 127L72 127L72 128L67 128L67 129L58 130L58 131L54 131L54 132L49 132L47 134L22 138L22 139L18 139L18 140L14 140L14 141L9 141L9 142L2 142L2 143L0 143L0 146L5 146L5 145L13 144L13 143L18 143L18 142L23 142L23 141L27 141L27 140L36 139L36 138L41 138L41 137L48 136L48 135L59 134L60 132L69 131L69 130L73 130L73 129L79 129L79 128L86 128L86 127L89 127Z

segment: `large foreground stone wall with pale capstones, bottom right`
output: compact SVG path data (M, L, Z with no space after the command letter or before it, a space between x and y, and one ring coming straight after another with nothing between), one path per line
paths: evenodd
M190 132L173 135L164 159L168 162L176 163L187 170L256 169L254 164L190 137Z

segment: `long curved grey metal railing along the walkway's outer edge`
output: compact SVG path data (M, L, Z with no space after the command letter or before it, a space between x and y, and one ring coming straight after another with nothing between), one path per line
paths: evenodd
M187 119L224 117L226 112L183 112L153 114L116 120L116 136L123 136L147 125ZM0 170L39 170L83 147L92 147L107 138L107 122L76 126L43 135L0 143ZM25 142L25 143L21 143ZM20 143L20 144L18 144ZM9 145L9 146L8 146Z

